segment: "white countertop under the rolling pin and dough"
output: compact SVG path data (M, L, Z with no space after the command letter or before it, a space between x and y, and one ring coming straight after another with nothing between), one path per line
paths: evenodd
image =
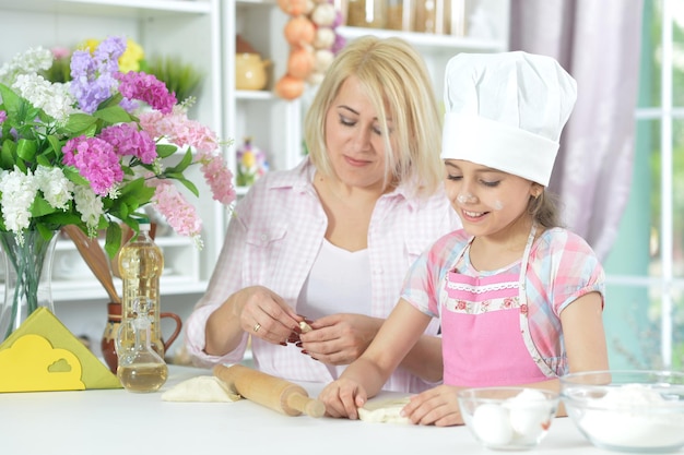
M170 403L162 393L211 370L169 368L157 393L125 390L0 394L2 455L496 454L464 427L418 427L291 417L241 399ZM303 384L315 397L319 384ZM610 454L594 448L568 418L556 418L528 453Z

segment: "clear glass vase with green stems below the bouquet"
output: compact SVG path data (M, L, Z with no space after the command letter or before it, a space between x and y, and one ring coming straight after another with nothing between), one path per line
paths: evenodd
M14 232L0 232L0 246L4 253L0 342L7 339L38 308L45 307L55 312L50 282L56 240L57 231L46 239L37 230L27 230L22 243Z

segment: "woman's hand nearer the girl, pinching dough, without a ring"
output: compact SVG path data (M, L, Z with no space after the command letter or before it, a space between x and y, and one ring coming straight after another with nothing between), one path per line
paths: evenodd
M362 314L323 316L309 324L311 332L299 335L300 347L323 363L350 364L364 354L382 321Z

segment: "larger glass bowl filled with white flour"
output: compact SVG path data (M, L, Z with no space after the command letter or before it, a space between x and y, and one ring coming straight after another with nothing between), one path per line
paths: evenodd
M684 446L684 373L614 370L561 378L561 398L600 448L668 453Z

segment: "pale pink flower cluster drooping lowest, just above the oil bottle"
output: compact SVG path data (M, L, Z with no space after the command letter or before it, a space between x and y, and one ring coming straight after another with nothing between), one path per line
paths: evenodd
M156 204L156 209L166 218L168 225L181 236L199 236L202 231L202 220L194 207L180 194L178 188L164 181L150 182L150 184L156 187L152 202Z

